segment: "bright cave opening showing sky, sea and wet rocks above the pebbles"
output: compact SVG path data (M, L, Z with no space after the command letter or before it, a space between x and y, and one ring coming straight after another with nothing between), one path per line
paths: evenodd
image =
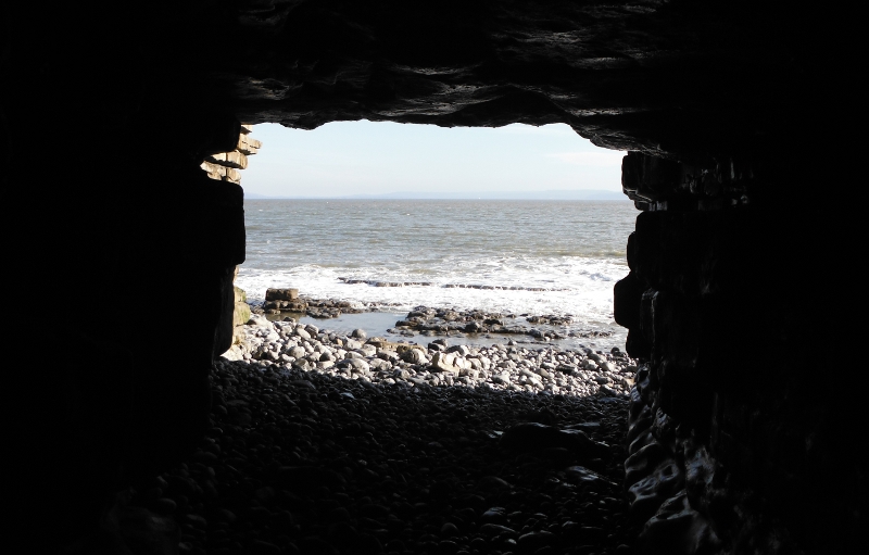
M264 147L244 173L237 285L268 318L394 341L624 350L612 290L637 214L621 193L624 152L563 124L253 135ZM267 302L268 288L297 288L307 304Z

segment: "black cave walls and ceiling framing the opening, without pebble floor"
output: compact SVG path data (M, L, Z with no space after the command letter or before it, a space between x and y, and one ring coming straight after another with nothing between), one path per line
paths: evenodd
M16 537L63 553L209 426L244 216L203 160L241 123L364 118L565 123L629 151L637 228L614 294L642 361L625 415L634 551L856 552L856 20L723 0L8 9Z

